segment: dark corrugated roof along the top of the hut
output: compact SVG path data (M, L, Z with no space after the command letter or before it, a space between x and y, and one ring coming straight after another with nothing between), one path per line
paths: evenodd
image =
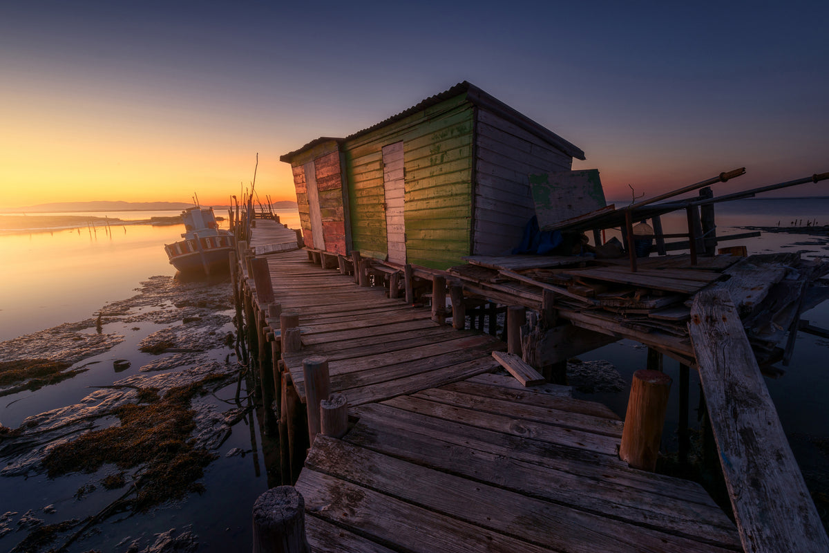
M299 148L298 150L286 153L279 159L281 161L290 163L290 159L293 158L294 155L304 152L308 148L313 148L313 146L316 146L318 143L322 143L327 140L336 140L337 142L342 143L346 140L359 138L364 134L371 133L376 129L385 127L385 125L392 124L395 121L399 121L400 119L405 119L406 117L409 117L411 114L415 114L435 104L439 104L440 102L443 102L446 99L450 99L464 93L467 95L467 99L473 104L489 109L501 115L504 119L507 119L511 121L511 123L517 124L521 128L526 129L526 131L535 134L538 138L545 140L545 142L550 143L552 146L555 146L555 148L560 149L562 152L572 156L573 158L584 159L584 152L580 148L575 146L573 143L570 143L564 138L561 138L558 134L550 131L550 129L546 129L540 124L537 124L535 121L533 121L526 115L521 114L516 109L512 109L507 104L504 104L501 100L495 98L492 95L487 94L486 92L484 92L483 90L479 89L477 86L473 85L472 83L466 80L464 80L462 83L454 85L449 90L445 90L444 92L441 92L434 96L429 96L429 98L424 99L419 104L413 105L409 109L401 111L399 114L392 115L388 119L383 119L380 123L373 124L371 125L371 127L362 129L353 134L349 134L346 138L317 138L316 140L313 140L305 144L302 148Z

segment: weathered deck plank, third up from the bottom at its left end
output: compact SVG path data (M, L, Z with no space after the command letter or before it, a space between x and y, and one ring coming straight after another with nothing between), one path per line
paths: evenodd
M671 542L682 551L705 551L701 544L665 532L560 507L335 439L323 438L315 444L306 467L413 505L424 505L485 531L515 534L515 525L520 523L522 541L544 543L554 550L656 551ZM500 516L492 516L496 512Z

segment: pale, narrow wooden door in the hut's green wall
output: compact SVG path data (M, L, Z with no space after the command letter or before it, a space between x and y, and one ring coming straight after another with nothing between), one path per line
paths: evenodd
M383 147L383 188L385 192L385 237L389 261L405 264L405 178L402 142Z

